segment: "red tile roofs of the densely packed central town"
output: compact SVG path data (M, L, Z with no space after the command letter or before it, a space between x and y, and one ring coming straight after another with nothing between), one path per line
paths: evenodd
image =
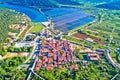
M55 43L54 40L52 39L49 41L49 44L48 42L41 42L41 44L42 44L42 49L40 50L40 52L48 52L48 56L41 54L41 56L43 56L41 65L45 67L46 70L52 70L54 69L54 67L62 68L61 64L66 64L74 57L72 55L73 51L70 49L71 46L67 41L64 41L64 42L58 41ZM69 52L67 55L66 55L66 51L62 49L63 45L66 48L66 50L68 50ZM52 49L52 50L49 50L49 49ZM58 53L56 53L56 51L58 51ZM57 57L58 57L58 63L56 61ZM77 69L78 65L72 65L70 66L70 68Z

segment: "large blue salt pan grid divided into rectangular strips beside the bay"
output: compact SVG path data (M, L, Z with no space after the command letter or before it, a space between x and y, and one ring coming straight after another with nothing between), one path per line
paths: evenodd
M54 8L45 11L45 14L52 18L55 29L63 32L72 30L95 19L76 8Z

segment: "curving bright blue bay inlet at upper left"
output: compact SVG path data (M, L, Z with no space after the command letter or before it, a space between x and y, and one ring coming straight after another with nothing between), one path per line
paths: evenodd
M16 5L10 5L10 4L1 4L1 3L0 3L0 7L8 8L8 9L20 12L20 13L26 15L27 17L29 17L30 20L34 23L48 21L47 18L45 17L45 15L40 13L38 10L35 10L35 8L16 6Z

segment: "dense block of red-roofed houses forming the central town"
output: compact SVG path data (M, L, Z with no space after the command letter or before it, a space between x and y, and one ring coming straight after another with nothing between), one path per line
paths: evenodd
M75 52L71 49L71 45L67 41L55 41L54 39L40 43L39 60L37 61L35 70L45 68L52 70L54 68L63 68L63 64L72 62L76 57ZM78 69L78 65L69 65L67 68Z

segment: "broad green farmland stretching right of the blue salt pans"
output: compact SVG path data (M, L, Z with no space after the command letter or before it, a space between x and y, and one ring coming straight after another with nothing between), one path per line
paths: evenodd
M88 8L88 5L91 7ZM95 8L92 6L95 6L95 4L85 3L85 5L80 8L83 8L84 11L89 14L96 15L96 20L92 23L77 27L71 30L70 33L81 30L85 34L104 40L105 45L112 48L112 50L110 50L111 57L117 64L120 64L116 59L115 53L116 48L120 47L120 11Z

